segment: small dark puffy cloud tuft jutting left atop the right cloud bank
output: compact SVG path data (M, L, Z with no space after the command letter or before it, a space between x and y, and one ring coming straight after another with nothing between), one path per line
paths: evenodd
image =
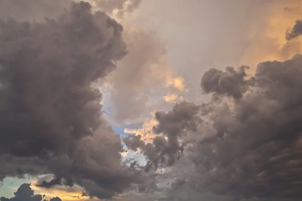
M241 98L248 90L245 70L247 66L241 66L237 70L233 67L226 67L225 72L211 68L201 78L200 86L205 93L214 95L226 95L236 99Z

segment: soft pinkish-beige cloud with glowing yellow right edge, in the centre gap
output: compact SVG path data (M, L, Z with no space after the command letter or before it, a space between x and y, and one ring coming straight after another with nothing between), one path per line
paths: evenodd
M123 36L128 54L106 79L108 105L114 109L115 123L131 124L144 121L155 108L164 105L161 93L173 91L169 87L184 90L184 80L176 76L166 48L155 34L125 29Z

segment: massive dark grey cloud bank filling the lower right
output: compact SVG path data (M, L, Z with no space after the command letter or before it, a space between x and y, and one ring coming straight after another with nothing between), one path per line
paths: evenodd
M177 121L184 118L177 107L161 113L165 118L157 116L158 129L162 128L158 132L176 135L175 142L188 144L184 154L191 164L184 163L183 168L189 170L193 165L195 170L181 175L186 179L181 186L199 192L210 190L238 200L301 197L302 55L284 62L260 63L256 74L244 84L244 90L237 90L241 86L239 81L225 83L231 92L217 89L219 77L230 72L211 71L214 73L208 71L202 79L212 78L208 83L212 83L209 85L214 92L224 96L240 94L241 99L228 103L214 99L208 104L210 107L191 104L185 124ZM245 75L245 68L240 72ZM199 116L202 121L196 121L194 116L203 108L207 112ZM191 129L194 124L196 132ZM187 128L191 132L184 132Z

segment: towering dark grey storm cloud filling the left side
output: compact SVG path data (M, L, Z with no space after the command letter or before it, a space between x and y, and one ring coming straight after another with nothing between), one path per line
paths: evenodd
M123 27L91 9L73 2L54 20L0 20L0 172L53 173L40 185L110 198L141 180L121 164L94 86L126 54Z

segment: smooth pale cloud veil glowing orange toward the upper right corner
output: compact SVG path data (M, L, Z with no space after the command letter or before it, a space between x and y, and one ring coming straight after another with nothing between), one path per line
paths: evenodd
M135 23L156 30L165 41L174 70L186 80L184 99L200 103L204 96L196 95L197 83L210 67L247 65L254 73L261 61L302 53L300 38L284 48L284 33L301 19L301 9L299 0L154 0L142 2ZM179 15L180 10L186 15Z

